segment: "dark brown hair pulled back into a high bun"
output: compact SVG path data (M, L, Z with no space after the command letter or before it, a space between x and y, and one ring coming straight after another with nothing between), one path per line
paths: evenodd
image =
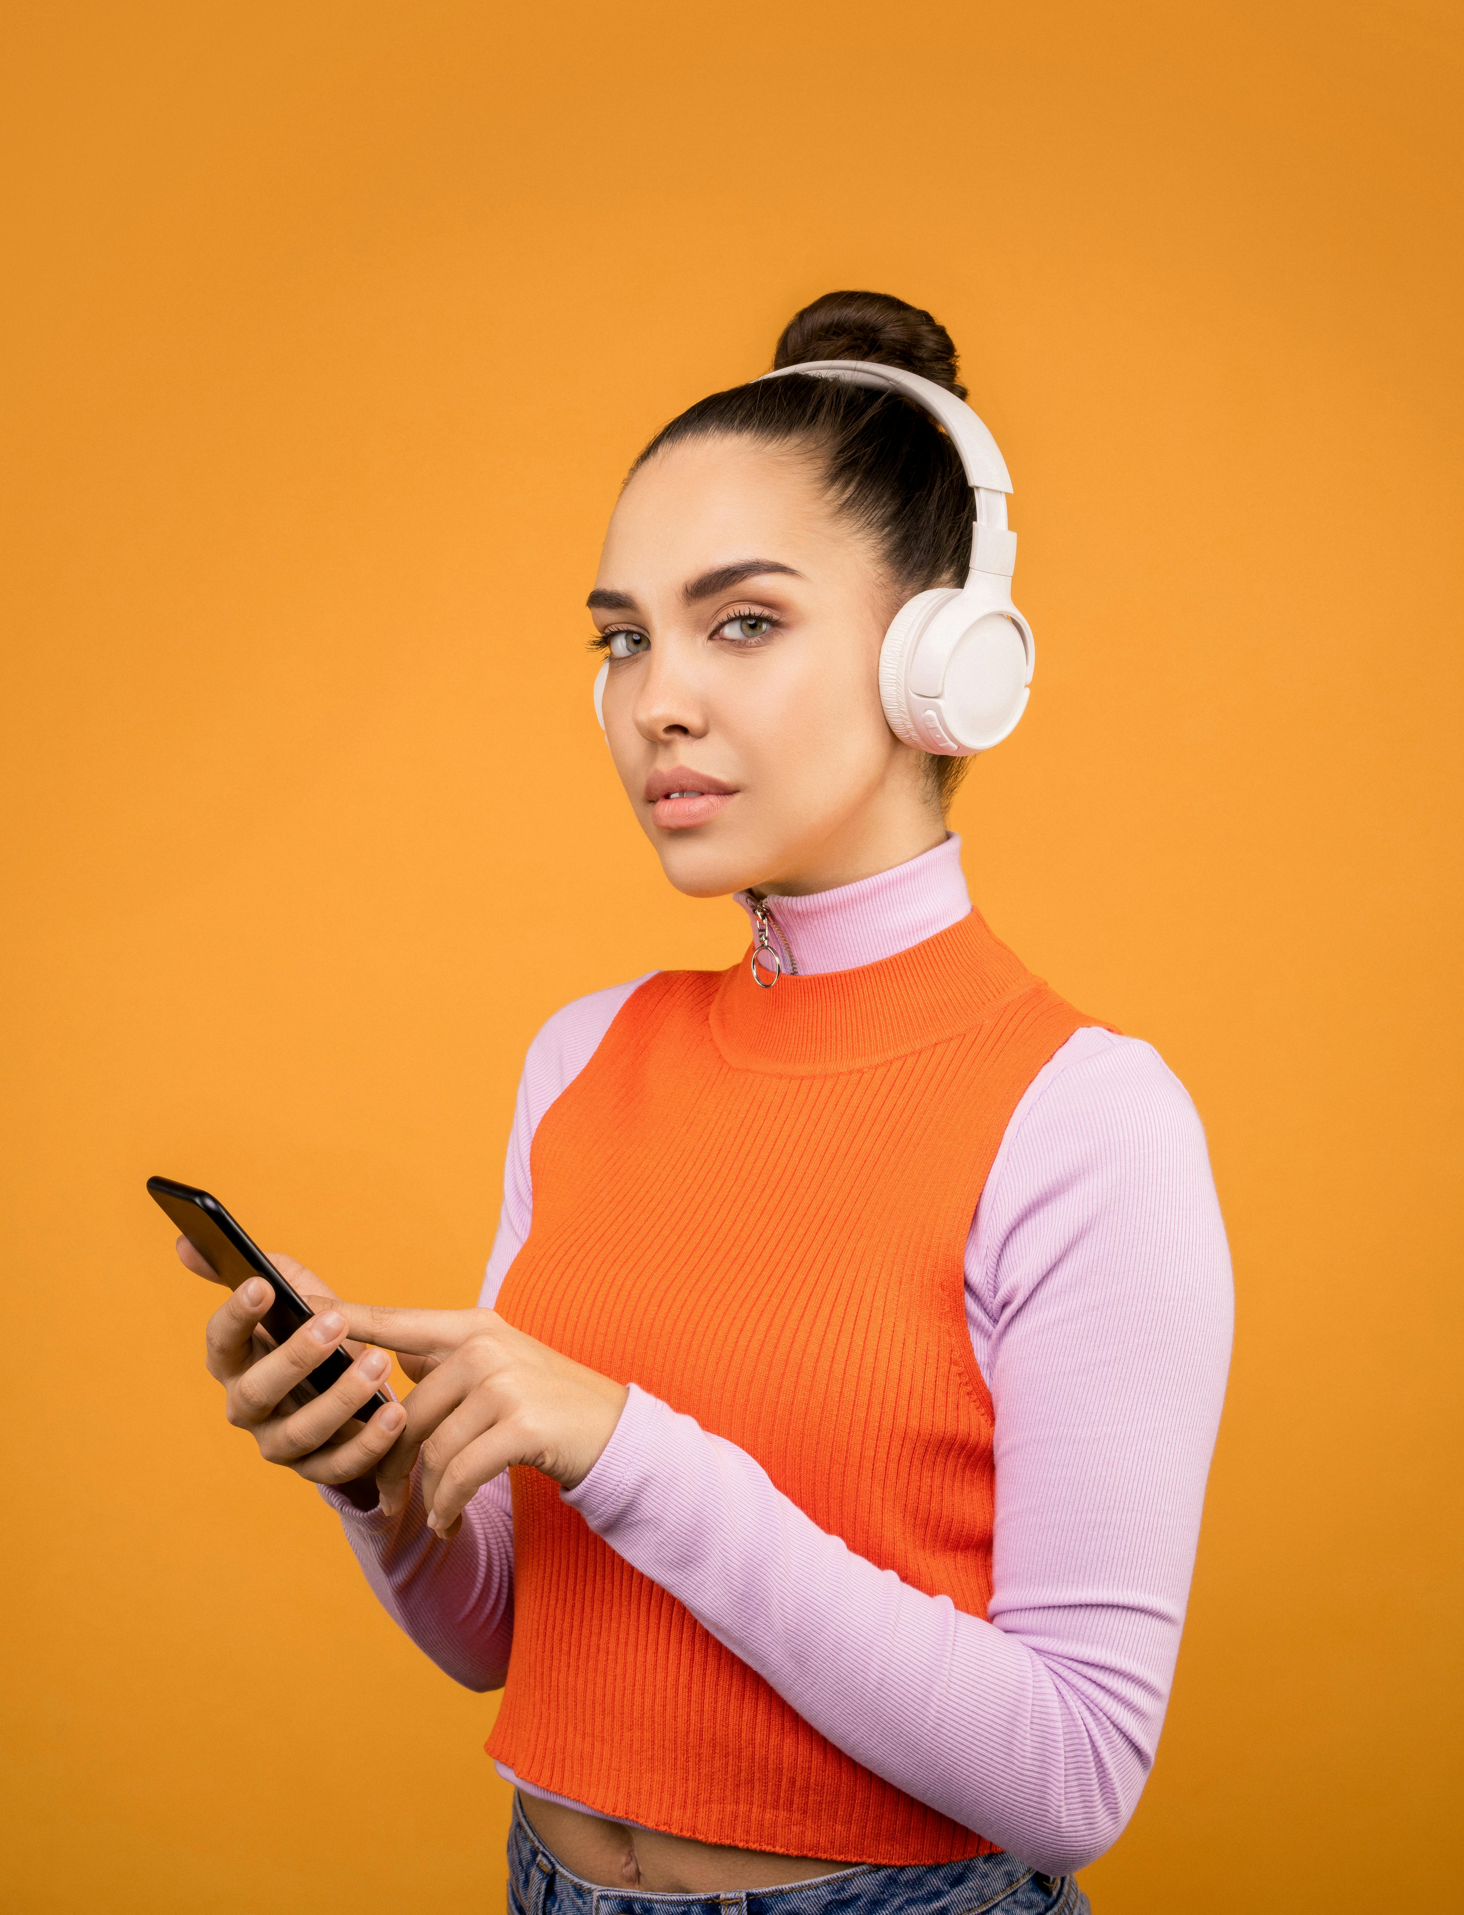
M773 368L854 358L903 366L957 398L955 345L919 306L888 293L825 293L783 327ZM632 465L683 439L721 433L811 454L823 484L875 546L901 599L930 586L961 586L970 567L972 496L955 446L930 414L898 393L844 379L764 379L699 398L664 425ZM928 758L945 806L968 758Z

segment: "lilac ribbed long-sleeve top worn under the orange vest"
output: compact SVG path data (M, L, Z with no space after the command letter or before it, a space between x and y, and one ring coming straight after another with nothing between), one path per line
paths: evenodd
M806 975L890 958L968 910L955 837L855 885L769 900ZM528 1235L534 1130L643 982L568 1003L528 1049L484 1308ZM1204 1130L1148 1044L1085 1028L1037 1072L972 1218L965 1295L995 1408L986 1618L854 1555L744 1450L633 1379L609 1448L561 1494L855 1762L1062 1873L1114 1842L1154 1760L1231 1352ZM415 1484L398 1519L325 1494L413 1641L467 1687L499 1687L507 1475L452 1543L433 1538Z

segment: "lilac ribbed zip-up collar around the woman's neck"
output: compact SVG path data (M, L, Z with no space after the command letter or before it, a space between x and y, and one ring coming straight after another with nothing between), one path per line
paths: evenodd
M752 896L739 890L737 902L752 919ZM949 931L970 913L955 833L909 864L896 864L854 885L800 898L769 890L764 902L783 958L792 958L800 977L878 963Z

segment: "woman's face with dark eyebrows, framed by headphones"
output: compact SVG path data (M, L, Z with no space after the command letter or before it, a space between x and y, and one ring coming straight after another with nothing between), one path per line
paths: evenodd
M589 609L610 755L677 890L825 890L942 843L880 709L898 603L788 448L693 439L635 473Z

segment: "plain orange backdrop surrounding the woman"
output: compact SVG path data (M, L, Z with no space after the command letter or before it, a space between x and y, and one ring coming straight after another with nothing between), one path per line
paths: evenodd
M0 1905L501 1907L494 1702L224 1427L142 1185L475 1295L538 1023L744 938L593 728L616 483L838 285L951 327L1016 481L1039 674L957 806L974 894L1185 1078L1236 1258L1169 1725L1087 1886L1445 1905L1456 10L52 0L6 40Z

